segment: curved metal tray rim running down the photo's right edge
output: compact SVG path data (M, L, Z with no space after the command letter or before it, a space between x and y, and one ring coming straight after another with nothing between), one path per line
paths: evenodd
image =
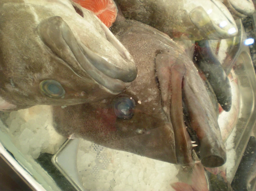
M242 39L245 40L247 37L246 37L244 27L242 27L242 33L243 33L243 38ZM235 176L235 173L238 169L238 165L241 161L242 155L243 155L243 153L245 151L245 148L246 148L246 145L249 141L250 134L251 134L253 128L255 127L255 122L256 122L256 111L254 109L256 107L256 104L255 104L256 76L255 76L253 63L252 63L252 60L251 60L251 57L250 57L249 47L245 46L241 42L239 52L240 52L240 54L238 54L237 58L242 56L242 54L244 54L245 56L250 58L249 62L244 62L244 67L245 67L245 71L247 73L247 77L249 78L248 81L250 83L250 87L251 87L251 90L252 90L252 100L251 100L252 105L251 105L251 111L250 111L250 115L248 117L247 123L244 126L244 131L243 131L242 135L239 138L238 144L235 147L237 157L235 159L235 166L232 168L232 178L231 178L230 182L233 180L233 178ZM237 61L237 58L236 58L236 61ZM235 63L233 63L233 64L235 64ZM240 153L240 155L238 155L238 153Z

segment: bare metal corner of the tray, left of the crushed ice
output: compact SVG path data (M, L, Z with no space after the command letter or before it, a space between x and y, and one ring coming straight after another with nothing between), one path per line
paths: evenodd
M76 138L65 141L61 148L53 155L52 163L76 190L86 191L80 182L77 170L77 151L80 140Z

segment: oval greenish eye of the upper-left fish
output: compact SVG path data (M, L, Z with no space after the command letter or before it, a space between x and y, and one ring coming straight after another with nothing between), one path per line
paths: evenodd
M50 98L63 98L65 95L65 90L55 80L44 80L39 84L39 88L44 96Z

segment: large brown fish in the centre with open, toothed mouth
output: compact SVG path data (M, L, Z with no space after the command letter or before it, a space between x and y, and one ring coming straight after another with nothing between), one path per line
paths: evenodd
M111 31L133 56L136 79L114 99L64 109L53 106L56 131L108 148L190 165L194 164L192 148L197 145L186 130L184 102L201 143L202 164L224 164L226 149L217 117L192 59L166 34L139 21L118 18L119 13Z

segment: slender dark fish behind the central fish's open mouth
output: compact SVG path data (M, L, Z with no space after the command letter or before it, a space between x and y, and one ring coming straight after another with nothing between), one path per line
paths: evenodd
M230 82L216 54L211 49L209 40L196 42L194 58L209 80L222 109L230 111L232 105Z

